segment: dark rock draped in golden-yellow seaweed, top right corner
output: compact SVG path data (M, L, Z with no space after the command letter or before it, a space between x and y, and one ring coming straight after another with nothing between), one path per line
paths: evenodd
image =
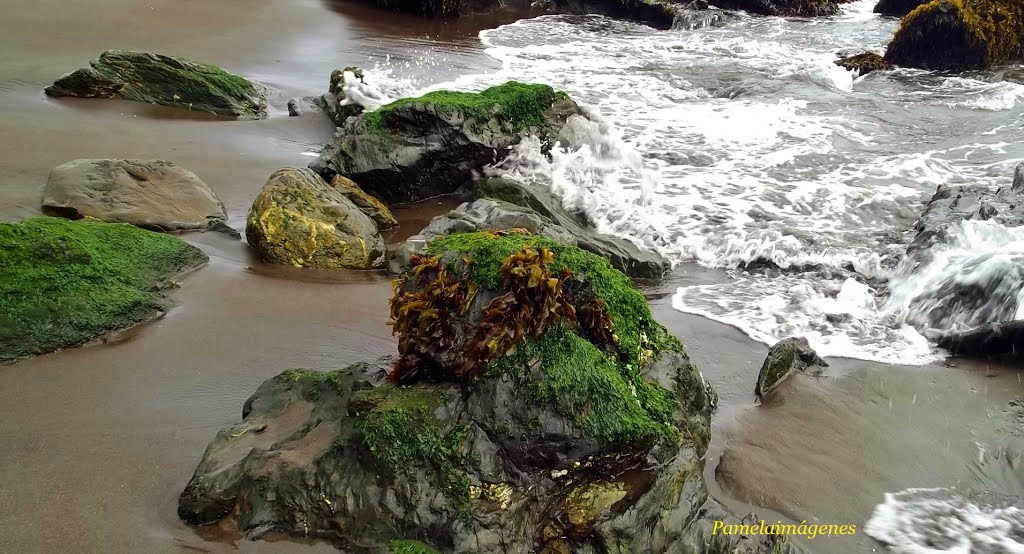
M903 18L886 62L938 71L988 69L1024 53L1024 3L933 0Z

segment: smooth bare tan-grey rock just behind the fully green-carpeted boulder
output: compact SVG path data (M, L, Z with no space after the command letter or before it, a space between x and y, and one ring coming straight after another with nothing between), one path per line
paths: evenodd
M195 173L162 160L75 160L50 171L43 213L165 230L203 230L227 220Z

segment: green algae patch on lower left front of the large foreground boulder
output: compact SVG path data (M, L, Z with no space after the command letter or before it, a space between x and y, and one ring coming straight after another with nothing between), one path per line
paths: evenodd
M396 476L415 482L422 471L451 503L457 517L469 513L470 460L466 427L438 418L447 400L430 386L383 385L352 394L349 413L371 455Z

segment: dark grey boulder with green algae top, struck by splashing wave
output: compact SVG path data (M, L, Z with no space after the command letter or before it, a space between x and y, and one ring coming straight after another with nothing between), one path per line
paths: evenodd
M328 179L344 175L388 205L413 202L469 184L526 134L552 144L579 113L547 85L434 91L349 118L310 167Z

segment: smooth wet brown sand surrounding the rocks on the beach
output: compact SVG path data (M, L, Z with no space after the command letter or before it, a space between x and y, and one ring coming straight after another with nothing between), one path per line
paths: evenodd
M510 15L438 24L329 0L18 1L0 18L0 219L39 213L49 170L78 158L162 158L199 174L241 229L266 177L304 166L333 132L288 118L331 70L390 57L424 85L497 67L479 29ZM266 121L229 122L118 100L52 99L42 88L109 48L224 66L275 89ZM401 240L445 200L396 211ZM331 551L296 542L210 541L181 523L177 496L216 431L258 385L290 368L329 370L394 350L388 278L267 267L244 243L191 235L210 264L180 306L123 340L0 367L0 552ZM724 275L680 268L650 291L721 408L708 478L716 496L766 519L859 526L884 492L966 478L978 444L1002 432L1019 374L995 367L896 368L836 360L755 408L767 348L671 307L681 284ZM721 462L720 462L721 459ZM721 484L715 481L716 473ZM813 551L869 551L863 535Z

